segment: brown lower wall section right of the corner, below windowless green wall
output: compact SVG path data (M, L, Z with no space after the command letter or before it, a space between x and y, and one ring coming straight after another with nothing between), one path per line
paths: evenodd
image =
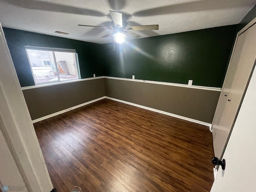
M219 91L105 78L106 96L212 123Z

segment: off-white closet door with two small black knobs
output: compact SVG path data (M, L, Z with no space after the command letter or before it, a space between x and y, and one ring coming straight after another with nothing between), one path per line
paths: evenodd
M212 126L214 154L220 158L236 118L256 58L256 24L240 34Z

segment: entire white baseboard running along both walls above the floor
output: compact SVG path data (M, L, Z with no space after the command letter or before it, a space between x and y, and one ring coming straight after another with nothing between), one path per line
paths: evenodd
M67 109L58 111L58 112L53 113L53 114L50 114L50 115L46 115L46 116L44 116L44 117L40 117L40 118L38 118L38 119L32 120L32 123L36 123L36 122L42 121L42 120L44 120L44 119L48 119L48 118L50 118L50 117L53 117L53 116L62 114L62 113L64 113L64 112L67 112L67 111L70 111L70 110L73 110L73 109L76 109L76 108L78 108L78 107L82 107L82 106L88 105L88 104L90 104L90 103L93 103L93 102L102 100L102 99L104 99L104 98L107 98L107 99L110 99L110 100L114 100L114 101L118 101L118 102L122 102L122 103L125 103L125 104L128 104L128 105L140 107L140 108L147 109L147 110L150 110L150 111L162 113L162 114L165 114L165 115L168 115L168 116L172 116L172 117L176 117L176 118L179 118L179 119L187 120L187 121L194 122L194 123L201 124L201 125L205 125L205 126L208 126L208 127L211 127L211 126L212 126L212 124L210 124L210 123L206 123L206 122L203 122L203 121L191 119L191 118L188 118L188 117L184 117L184 116L172 114L172 113L169 113L169 112L161 111L161 110L158 110L158 109L146 107L146 106L143 106L143 105L138 105L138 104L135 104L135 103L131 103L131 102L127 102L127 101L124 101L124 100L120 100L120 99L116 99L116 98L112 98L112 97L107 97L107 96L103 96L103 97L100 97L100 98L98 98L98 99L94 99L94 100L91 100L91 101L88 101L88 102L85 102L85 103L76 105L76 106L74 106L74 107L70 107L70 108L67 108Z

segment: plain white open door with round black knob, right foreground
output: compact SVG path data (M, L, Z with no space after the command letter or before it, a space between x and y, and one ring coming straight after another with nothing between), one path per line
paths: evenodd
M226 169L219 168L211 192L256 192L256 69L223 158Z

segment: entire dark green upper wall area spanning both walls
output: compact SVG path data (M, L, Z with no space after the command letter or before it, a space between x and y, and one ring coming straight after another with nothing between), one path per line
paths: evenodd
M20 85L34 85L24 46L69 48L78 52L82 78L114 76L221 87L237 25L130 40L126 52L94 44L3 28Z

